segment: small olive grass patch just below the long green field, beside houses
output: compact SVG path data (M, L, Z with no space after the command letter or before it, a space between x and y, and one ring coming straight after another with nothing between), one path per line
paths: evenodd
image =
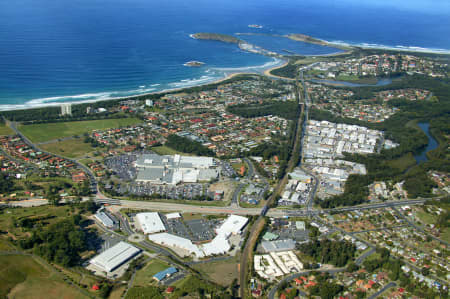
M42 144L45 151L68 158L77 158L94 151L90 143L84 143L82 138L69 139L54 143Z

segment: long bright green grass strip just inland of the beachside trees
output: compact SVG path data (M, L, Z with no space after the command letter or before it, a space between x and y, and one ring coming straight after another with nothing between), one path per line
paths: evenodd
M60 123L21 125L19 130L33 142L82 135L92 130L106 130L141 123L137 118L100 119Z

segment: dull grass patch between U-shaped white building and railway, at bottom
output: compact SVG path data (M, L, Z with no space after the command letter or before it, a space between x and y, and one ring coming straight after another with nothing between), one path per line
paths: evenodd
M197 264L194 269L219 285L229 286L235 278L238 278L238 264L239 260L233 257L225 261Z

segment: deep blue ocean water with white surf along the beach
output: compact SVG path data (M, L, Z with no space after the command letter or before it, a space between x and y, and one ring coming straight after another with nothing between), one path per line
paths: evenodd
M195 32L303 33L350 44L450 51L446 1L361 2L0 1L0 109L179 88L280 63L233 44L190 38ZM299 54L335 52L252 38ZM183 66L190 60L206 64Z

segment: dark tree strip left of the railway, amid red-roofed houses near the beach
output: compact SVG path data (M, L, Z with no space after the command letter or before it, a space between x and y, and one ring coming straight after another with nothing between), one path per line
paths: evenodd
M263 103L237 104L227 107L227 111L242 117L277 115L286 119L296 119L300 106L295 101L266 101Z

